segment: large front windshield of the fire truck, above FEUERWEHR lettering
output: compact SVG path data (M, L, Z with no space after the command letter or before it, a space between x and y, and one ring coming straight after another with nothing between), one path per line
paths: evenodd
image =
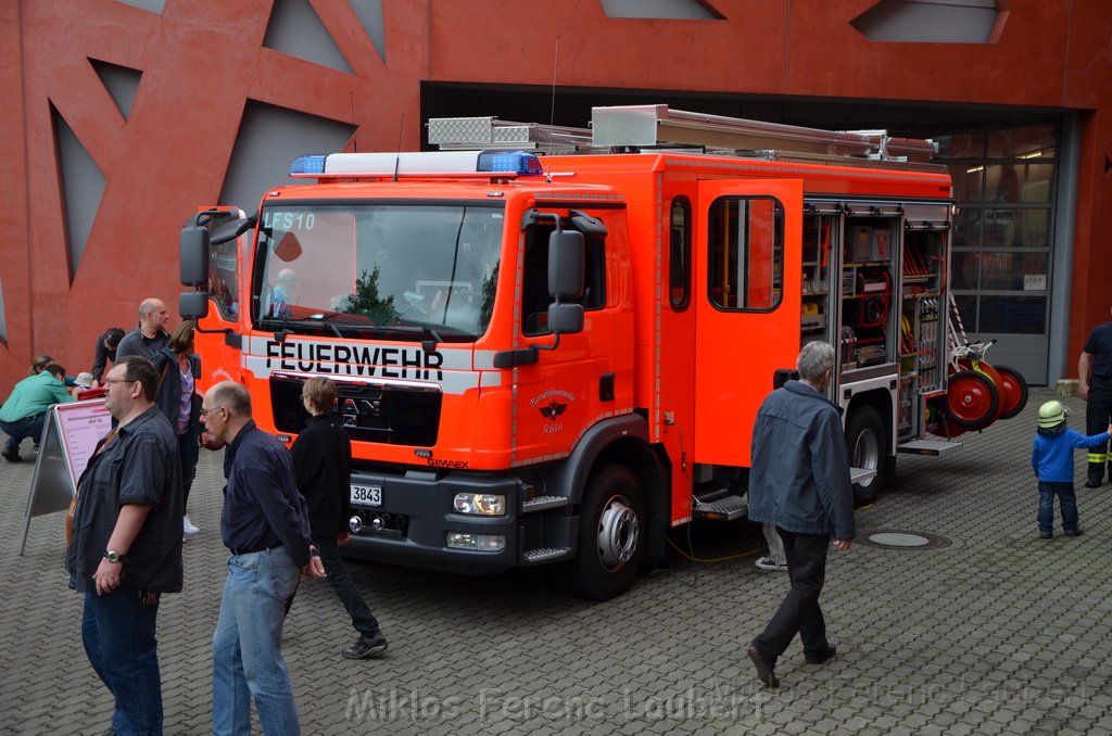
M470 341L486 331L503 209L483 205L286 202L259 218L261 329Z

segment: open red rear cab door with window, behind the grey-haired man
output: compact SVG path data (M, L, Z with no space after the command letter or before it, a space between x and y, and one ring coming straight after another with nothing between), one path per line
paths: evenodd
M803 182L698 182L696 463L749 465L753 420L800 352Z

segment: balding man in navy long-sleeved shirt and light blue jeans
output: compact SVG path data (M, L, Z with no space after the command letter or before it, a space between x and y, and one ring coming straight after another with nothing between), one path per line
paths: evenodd
M220 536L231 551L212 637L212 730L251 733L251 699L267 736L300 734L281 656L286 601L299 575L325 577L309 535L289 450L251 419L251 395L234 381L205 395L201 421L227 445ZM180 517L179 517L180 537Z

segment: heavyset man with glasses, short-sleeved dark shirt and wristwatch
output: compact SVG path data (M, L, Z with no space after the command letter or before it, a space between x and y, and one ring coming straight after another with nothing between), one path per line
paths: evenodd
M108 371L105 404L118 426L81 474L66 550L70 587L85 594L85 650L116 698L117 734L162 733L156 619L161 594L182 585L181 466L155 406L157 384L146 358Z

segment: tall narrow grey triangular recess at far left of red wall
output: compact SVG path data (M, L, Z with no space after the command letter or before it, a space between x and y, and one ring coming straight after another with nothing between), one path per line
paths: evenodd
M66 235L69 246L69 280L73 284L89 232L97 219L100 199L105 195L105 175L89 156L73 130L53 106L54 142L62 177L62 209L66 213Z

